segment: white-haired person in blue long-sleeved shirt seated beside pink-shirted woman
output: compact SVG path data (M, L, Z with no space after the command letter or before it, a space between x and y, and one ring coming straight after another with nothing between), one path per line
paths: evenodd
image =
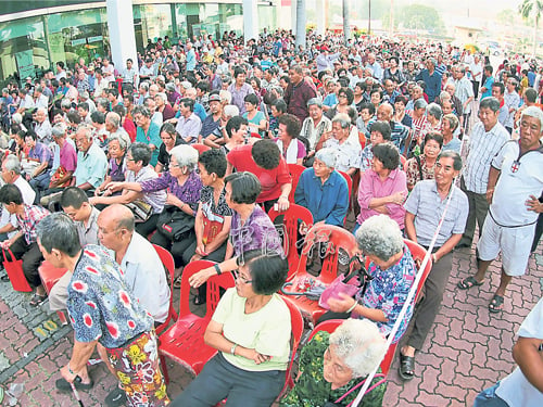
M313 168L300 176L294 202L310 209L316 224L342 227L349 211L349 187L343 176L334 170L337 158L332 149L317 151Z

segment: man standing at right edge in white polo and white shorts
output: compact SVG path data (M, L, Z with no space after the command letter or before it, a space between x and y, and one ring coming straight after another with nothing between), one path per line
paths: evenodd
M485 99L487 100L487 99ZM520 139L503 144L493 155L487 188L489 213L477 244L479 267L473 277L458 283L460 289L481 285L487 269L502 253L502 277L492 301L491 313L503 309L507 284L522 276L543 203L543 112L530 106L520 117Z

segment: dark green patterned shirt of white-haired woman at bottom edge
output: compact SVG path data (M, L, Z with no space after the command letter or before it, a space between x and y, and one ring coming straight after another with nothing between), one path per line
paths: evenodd
M329 344L329 338L330 334L328 332L318 332L303 347L300 356L300 372L302 374L290 393L279 403L280 407L321 407L327 402L334 403L349 392L350 389L364 380L362 378L353 379L342 387L331 389L331 383L327 382L324 378L324 355ZM379 381L382 381L382 377L378 376L374 378L370 389ZM348 406L356 398L359 389L362 389L362 385L343 398L338 406ZM387 382L383 381L364 396L359 406L382 406L382 397L386 390Z

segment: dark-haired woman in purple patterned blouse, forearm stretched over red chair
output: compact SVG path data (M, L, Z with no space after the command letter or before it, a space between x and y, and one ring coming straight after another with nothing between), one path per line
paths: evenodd
M233 211L225 262L192 276L189 282L195 288L211 276L236 270L239 258L245 251L260 250L262 253L283 255L279 233L255 202L261 193L258 179L253 174L243 171L229 175L225 181L226 202Z

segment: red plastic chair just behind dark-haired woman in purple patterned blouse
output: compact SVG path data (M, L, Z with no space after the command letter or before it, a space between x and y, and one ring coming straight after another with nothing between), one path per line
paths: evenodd
M282 225L285 227L282 233L282 249L289 262L289 276L287 280L290 280L294 276L298 263L300 262L300 255L298 254L298 221L302 220L307 225L307 228L311 228L313 226L313 215L306 207L296 204L290 204L286 212L277 212L272 208L268 213L272 221L280 215L285 215L282 219Z

